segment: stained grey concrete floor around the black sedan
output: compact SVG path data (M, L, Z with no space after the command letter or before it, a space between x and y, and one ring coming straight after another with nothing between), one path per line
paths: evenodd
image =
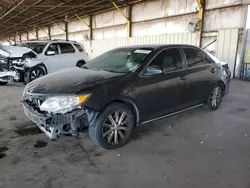
M139 127L112 151L84 134L50 142L27 129L22 85L0 89L0 187L250 188L249 82L233 80L217 111L197 108Z

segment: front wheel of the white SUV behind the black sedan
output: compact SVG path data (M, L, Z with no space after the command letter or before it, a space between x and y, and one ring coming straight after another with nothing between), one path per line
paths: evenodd
M40 78L44 75L46 75L46 72L42 66L29 68L24 73L24 85L26 85L26 84L32 82L33 80L36 80L37 78Z

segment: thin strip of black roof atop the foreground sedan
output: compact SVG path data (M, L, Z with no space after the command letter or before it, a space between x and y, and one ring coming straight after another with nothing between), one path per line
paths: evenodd
M195 45L189 45L189 44L147 44L147 45L130 45L130 46L124 46L120 48L153 48L154 50L162 49L162 48L199 48Z

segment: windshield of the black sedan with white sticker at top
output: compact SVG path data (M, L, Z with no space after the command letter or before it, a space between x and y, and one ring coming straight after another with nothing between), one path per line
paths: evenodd
M148 48L120 48L92 59L84 67L127 73L135 70L152 51Z

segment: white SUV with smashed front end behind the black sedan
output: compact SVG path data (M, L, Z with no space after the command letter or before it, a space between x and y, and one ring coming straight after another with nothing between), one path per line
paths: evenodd
M0 45L0 85L27 84L65 68L81 67L88 61L84 47L75 41L28 41L18 46Z

